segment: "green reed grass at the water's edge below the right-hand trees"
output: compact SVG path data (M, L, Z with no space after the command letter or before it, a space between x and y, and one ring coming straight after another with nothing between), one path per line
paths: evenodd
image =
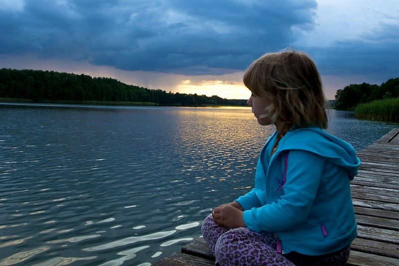
M355 108L355 117L399 122L399 97L361 103Z

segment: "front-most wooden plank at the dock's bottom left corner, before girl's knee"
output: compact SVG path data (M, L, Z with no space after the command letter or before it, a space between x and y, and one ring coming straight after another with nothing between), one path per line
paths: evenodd
M153 264L153 266L210 266L214 265L214 261L209 261L200 257L184 254L184 253L172 253L168 257L161 261Z

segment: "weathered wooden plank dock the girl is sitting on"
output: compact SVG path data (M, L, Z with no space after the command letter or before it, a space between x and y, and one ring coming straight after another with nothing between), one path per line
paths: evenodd
M358 152L362 165L351 182L358 237L349 266L399 266L399 128ZM202 238L154 266L210 266L214 257Z

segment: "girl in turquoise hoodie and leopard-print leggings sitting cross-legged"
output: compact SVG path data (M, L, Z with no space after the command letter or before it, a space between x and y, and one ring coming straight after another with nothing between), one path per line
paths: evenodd
M219 265L345 265L356 238L349 181L360 160L325 131L320 75L293 50L267 53L244 74L248 105L276 131L260 152L255 188L202 225Z

